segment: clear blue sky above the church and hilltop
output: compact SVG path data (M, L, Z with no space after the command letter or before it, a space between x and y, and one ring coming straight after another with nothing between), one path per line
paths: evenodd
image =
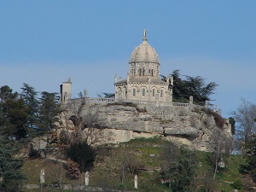
M213 103L229 117L241 97L255 102L255 10L255 0L1 0L0 86L59 92L70 77L73 97L113 92L145 28L160 73L216 82Z

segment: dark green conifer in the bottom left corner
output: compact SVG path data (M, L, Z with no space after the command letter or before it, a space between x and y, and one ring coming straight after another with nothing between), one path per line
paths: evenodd
M1 191L20 192L24 176L21 174L22 160L14 158L14 146L10 140L0 137L0 181Z

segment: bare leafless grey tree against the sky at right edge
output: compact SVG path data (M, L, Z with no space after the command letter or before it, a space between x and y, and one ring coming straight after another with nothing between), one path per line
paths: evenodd
M236 137L244 143L249 143L256 134L256 105L241 99L241 105L232 112L236 120Z

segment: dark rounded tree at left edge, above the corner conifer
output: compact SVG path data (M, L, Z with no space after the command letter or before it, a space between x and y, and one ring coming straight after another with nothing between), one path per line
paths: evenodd
M26 120L30 108L9 86L5 85L0 90L0 128L8 136L15 136L18 139L26 137Z

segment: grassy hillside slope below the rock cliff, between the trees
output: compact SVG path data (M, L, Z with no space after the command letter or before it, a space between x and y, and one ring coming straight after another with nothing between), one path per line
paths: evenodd
M138 177L138 191L172 191L168 190L166 183L160 182L160 168L165 165L163 158L163 146L166 141L160 138L138 138L127 143L108 144L97 148L97 160L95 167L90 172L90 186L108 189L133 190L134 174ZM196 152L196 179L197 191L202 190L201 185L206 183L206 171L211 170L210 153ZM225 157L225 167L218 171L214 182L208 179L208 183L213 191L233 191L230 185L242 176L238 172L239 165L244 160L240 156L230 155ZM124 163L125 166L123 170ZM65 170L62 163L55 160L25 160L22 171L26 175L26 183L38 184L39 172L44 168L45 183L57 183L61 176L61 184L79 185L82 180L70 180L65 177ZM122 174L124 172L124 174ZM121 176L124 176L121 183ZM210 177L209 177L210 178ZM84 182L83 182L84 183ZM201 190L200 190L201 189ZM38 191L38 189L26 189L26 191ZM44 191L54 191L44 189ZM59 190L58 190L59 191ZM68 191L68 190L65 190ZM73 190L70 190L73 191ZM89 190L90 191L90 190ZM239 189L239 191L248 191Z

